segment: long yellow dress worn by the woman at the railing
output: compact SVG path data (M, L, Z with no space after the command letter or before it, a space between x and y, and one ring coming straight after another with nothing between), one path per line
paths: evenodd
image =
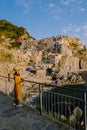
M20 75L14 76L14 82L15 82L15 86L14 86L15 98L16 100L21 100L22 99L22 90L21 90L22 80L21 80Z

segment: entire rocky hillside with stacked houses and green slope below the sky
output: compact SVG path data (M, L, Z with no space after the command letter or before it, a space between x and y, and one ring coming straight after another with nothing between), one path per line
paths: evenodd
M25 77L36 81L84 82L80 74L87 70L87 48L80 39L57 35L36 40L23 27L6 20L0 24L1 74L12 75L14 68L20 68Z

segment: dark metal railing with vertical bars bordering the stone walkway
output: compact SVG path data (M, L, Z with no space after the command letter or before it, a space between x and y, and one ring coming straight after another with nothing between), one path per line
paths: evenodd
M3 87L2 91L8 95L12 94L13 78L0 76L0 82ZM28 97L27 103L40 111L42 115L46 114L73 130L87 130L87 89L85 84L82 87L74 88L24 80L22 90L24 99Z

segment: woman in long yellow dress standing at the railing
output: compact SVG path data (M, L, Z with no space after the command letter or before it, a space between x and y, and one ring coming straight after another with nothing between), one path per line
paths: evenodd
M14 94L15 94L15 106L22 106L20 104L22 100L22 89L21 83L23 82L23 78L21 78L19 70L16 70L14 73Z

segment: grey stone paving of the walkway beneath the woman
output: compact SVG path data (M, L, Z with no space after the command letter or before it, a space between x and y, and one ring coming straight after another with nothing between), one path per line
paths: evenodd
M0 92L0 130L69 130L26 105L14 107L12 102L10 96Z

